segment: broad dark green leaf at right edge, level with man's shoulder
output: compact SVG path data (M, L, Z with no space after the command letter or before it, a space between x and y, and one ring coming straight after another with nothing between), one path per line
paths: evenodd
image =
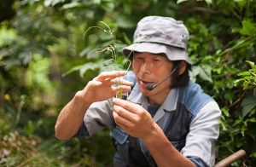
M241 107L242 107L242 117L245 117L249 112L253 110L254 107L256 107L256 96L249 95L243 101L241 101Z

